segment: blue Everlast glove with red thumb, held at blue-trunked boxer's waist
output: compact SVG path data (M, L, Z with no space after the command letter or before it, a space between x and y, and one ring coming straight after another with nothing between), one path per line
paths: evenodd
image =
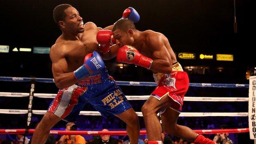
M84 64L74 71L74 76L78 80L82 80L94 73L104 69L105 64L101 56L94 51L85 56Z

